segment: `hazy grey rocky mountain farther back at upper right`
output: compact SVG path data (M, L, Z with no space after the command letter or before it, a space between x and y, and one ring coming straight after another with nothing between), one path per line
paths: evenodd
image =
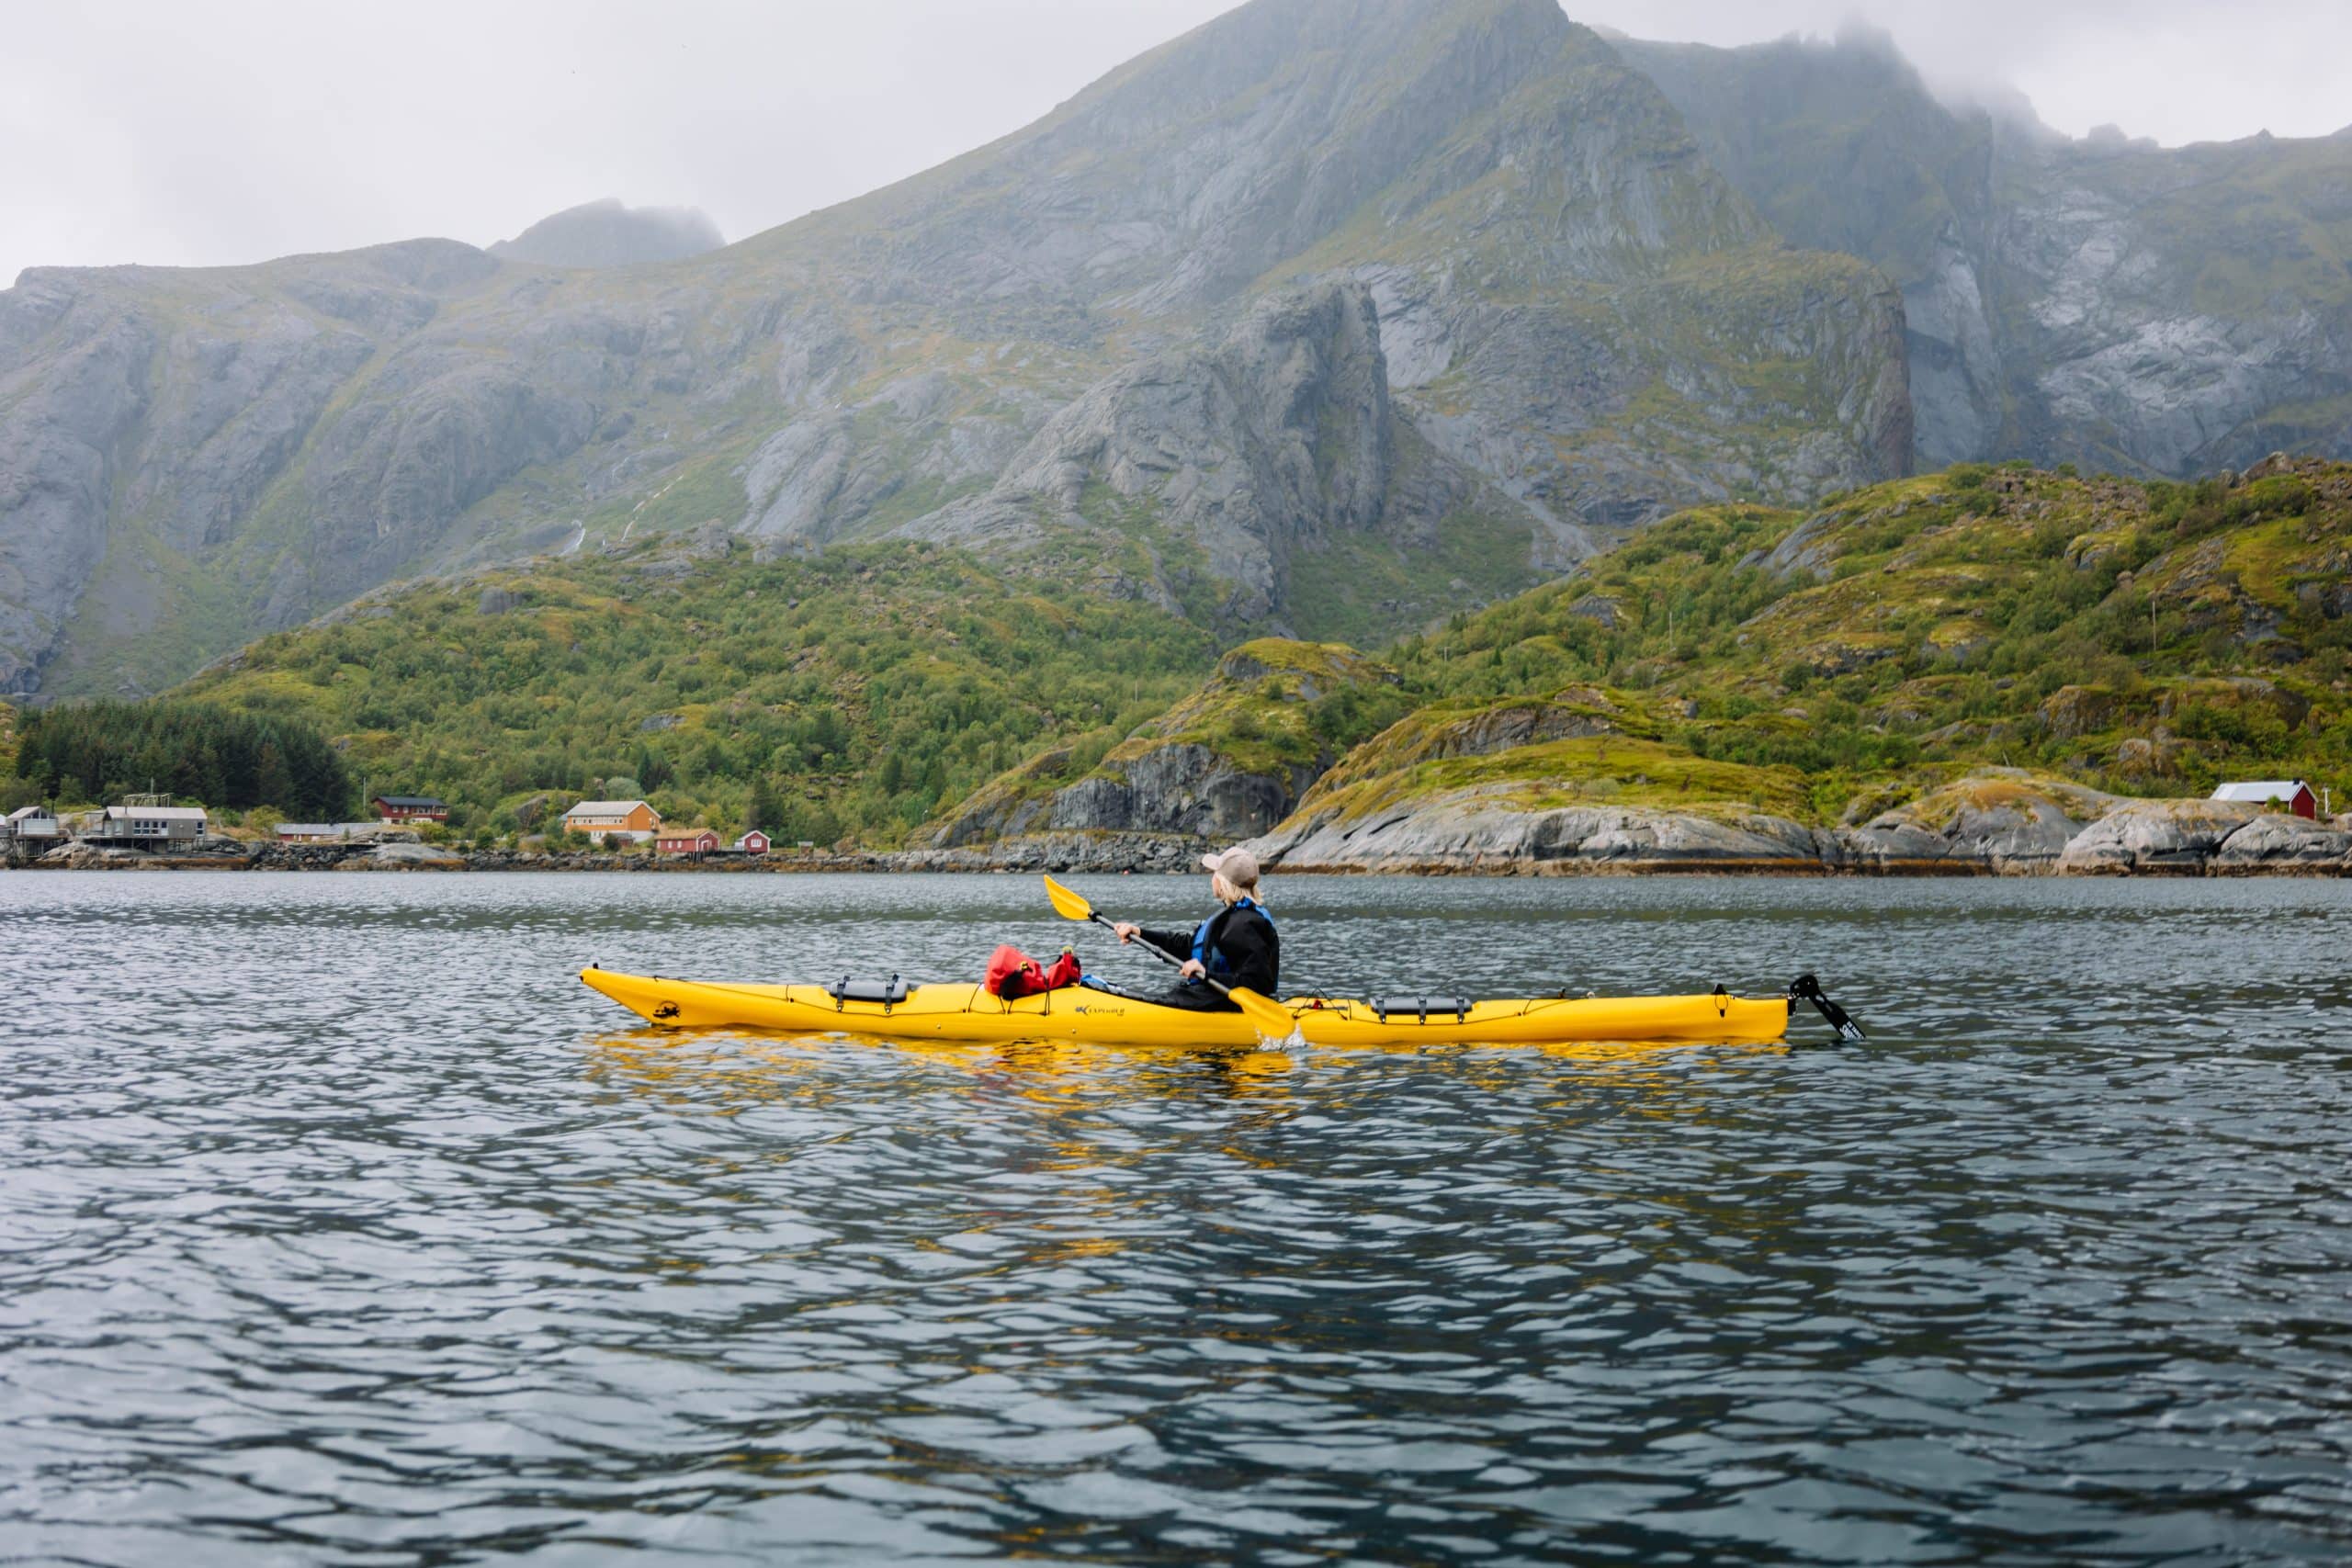
M1867 31L1618 49L1780 235L1903 289L1919 465L2352 451L2352 134L2072 141Z

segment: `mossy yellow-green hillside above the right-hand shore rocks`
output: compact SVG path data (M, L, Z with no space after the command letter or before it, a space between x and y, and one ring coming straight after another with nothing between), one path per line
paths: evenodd
M1955 468L1811 517L1698 508L1392 649L1428 705L1310 804L1491 785L1837 820L1985 764L2138 795L2352 783L2347 571L2340 463L2234 487ZM1548 701L1611 733L1444 755Z

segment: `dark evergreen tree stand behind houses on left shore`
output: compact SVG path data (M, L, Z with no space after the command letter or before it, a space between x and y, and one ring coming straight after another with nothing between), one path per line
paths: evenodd
M353 806L350 771L315 724L176 698L33 710L19 722L14 773L14 795L78 804L165 790L315 820Z

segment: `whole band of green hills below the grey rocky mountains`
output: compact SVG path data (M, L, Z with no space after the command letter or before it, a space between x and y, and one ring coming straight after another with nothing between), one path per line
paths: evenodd
M915 543L762 562L661 536L379 592L181 696L310 722L355 780L442 795L475 835L628 788L680 823L891 846L1169 743L1319 773L1308 804L1348 813L1482 788L1835 823L1985 769L2352 783L2343 463L1966 465L1804 512L1696 508L1381 658L1218 661L1138 581L1077 545L1047 583Z

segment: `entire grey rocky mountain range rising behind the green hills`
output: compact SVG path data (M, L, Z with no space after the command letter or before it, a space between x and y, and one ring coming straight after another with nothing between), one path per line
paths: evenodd
M0 691L153 691L395 576L652 529L1378 637L1700 501L2345 451L2347 188L2352 139L2072 141L1867 31L1256 0L722 249L600 205L503 254L26 270Z

